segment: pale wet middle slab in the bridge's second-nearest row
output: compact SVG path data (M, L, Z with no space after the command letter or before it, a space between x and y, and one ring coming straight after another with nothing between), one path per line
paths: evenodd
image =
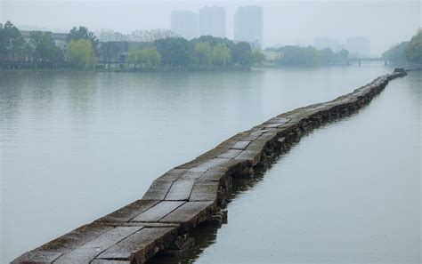
M182 201L162 201L159 204L151 207L149 210L142 212L132 221L136 222L158 222L170 212L173 212L177 207L185 202Z

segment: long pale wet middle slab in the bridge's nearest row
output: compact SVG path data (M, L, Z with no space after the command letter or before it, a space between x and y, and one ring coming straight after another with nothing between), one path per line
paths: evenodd
M110 231L93 238L86 244L77 247L77 249L63 254L54 263L89 263L101 252L107 250L113 244L125 239L127 236L134 234L142 227L118 227L112 228Z

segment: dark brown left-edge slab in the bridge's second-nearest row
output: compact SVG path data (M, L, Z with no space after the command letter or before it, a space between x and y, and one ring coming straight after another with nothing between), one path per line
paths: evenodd
M95 222L128 222L158 203L159 201L156 200L137 200L132 204L128 204L125 207L118 209L118 211L111 212Z

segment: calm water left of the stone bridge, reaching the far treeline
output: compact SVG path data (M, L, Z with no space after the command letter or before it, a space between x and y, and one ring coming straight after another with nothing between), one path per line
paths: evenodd
M0 73L0 262L133 202L236 132L391 71Z

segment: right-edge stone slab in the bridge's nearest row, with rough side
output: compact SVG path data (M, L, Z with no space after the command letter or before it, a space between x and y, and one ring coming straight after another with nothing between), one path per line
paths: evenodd
M102 252L97 259L129 260L145 263L158 250L164 249L166 241L177 235L176 228L142 228L131 236L112 245Z

